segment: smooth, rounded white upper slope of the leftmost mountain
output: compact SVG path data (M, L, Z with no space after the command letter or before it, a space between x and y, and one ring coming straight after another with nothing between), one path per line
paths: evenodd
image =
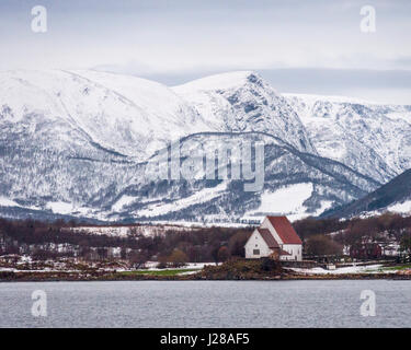
M54 128L57 142L70 139L67 133L76 130L90 142L144 160L178 137L204 129L181 97L148 80L93 71L0 75L0 122L24 122L28 115L37 115L30 124L35 132L44 130L45 122L71 130Z

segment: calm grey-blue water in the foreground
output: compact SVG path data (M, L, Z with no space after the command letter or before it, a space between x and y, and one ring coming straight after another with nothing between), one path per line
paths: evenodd
M47 317L32 315L32 292ZM361 316L362 290L376 316ZM411 281L0 283L0 327L410 327Z

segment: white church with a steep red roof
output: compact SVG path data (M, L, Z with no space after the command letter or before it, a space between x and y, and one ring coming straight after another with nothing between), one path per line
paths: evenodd
M302 260L302 242L286 217L265 217L244 247L248 259Z

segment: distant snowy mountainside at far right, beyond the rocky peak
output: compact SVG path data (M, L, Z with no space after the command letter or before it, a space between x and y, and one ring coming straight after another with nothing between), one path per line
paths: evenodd
M411 167L411 106L284 94L319 154L386 183Z

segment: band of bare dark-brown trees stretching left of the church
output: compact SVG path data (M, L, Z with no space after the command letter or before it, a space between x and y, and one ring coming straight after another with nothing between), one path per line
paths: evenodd
M252 229L205 228L169 230L142 235L130 229L127 236L75 232L62 222L0 219L0 255L26 254L36 259L77 256L83 259L128 259L135 267L148 260L179 266L186 261L224 261L243 256Z

